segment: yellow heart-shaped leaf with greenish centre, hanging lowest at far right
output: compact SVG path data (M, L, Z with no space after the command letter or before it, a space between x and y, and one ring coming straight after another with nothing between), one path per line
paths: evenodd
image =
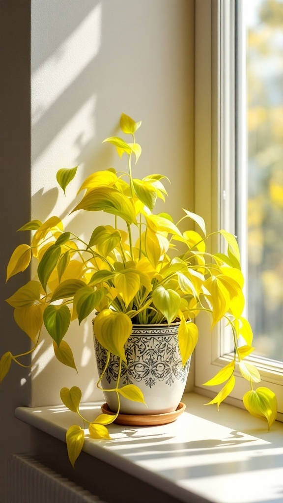
M245 393L243 402L250 414L260 419L267 419L269 430L276 419L277 400L275 394L268 388L257 388L255 391Z

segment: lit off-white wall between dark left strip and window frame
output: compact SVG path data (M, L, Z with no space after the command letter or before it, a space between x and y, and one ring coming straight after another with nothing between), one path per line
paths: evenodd
M121 112L143 121L136 176L171 179L160 211L176 221L182 207L193 209L192 0L33 0L31 59L32 218L65 217L86 238L95 226L112 222L104 213L68 213L86 176L110 166L126 169L126 159L119 161L115 149L102 144L117 134ZM65 198L55 174L77 164ZM100 397L91 317L73 325L65 340L79 377L45 343L34 361L34 406L60 403L62 386L80 386L84 400Z

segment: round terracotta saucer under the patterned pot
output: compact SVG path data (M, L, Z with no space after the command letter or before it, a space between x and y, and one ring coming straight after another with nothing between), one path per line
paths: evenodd
M173 412L166 412L164 414L154 414L154 415L135 415L135 414L118 414L114 423L117 425L127 425L127 426L157 426L157 425L167 425L168 423L173 423L176 421L177 417L181 415L186 408L186 405L182 402L179 403L176 410ZM108 407L107 403L101 406L101 410L104 414L115 415L115 412Z

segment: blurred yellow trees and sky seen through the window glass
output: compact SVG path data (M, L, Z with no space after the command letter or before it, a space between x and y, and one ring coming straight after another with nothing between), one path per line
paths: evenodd
M244 0L248 316L256 354L283 361L283 0ZM240 204L240 201L239 201Z

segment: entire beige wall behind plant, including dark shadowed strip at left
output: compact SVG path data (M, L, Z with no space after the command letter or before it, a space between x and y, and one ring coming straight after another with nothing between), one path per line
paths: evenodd
M16 229L30 216L68 214L82 178L122 167L113 149L102 145L116 134L121 112L143 120L137 176L163 173L171 179L166 209L175 220L182 206L193 209L194 1L33 0L30 26L30 0L2 0L0 20L0 353L16 354L29 346L4 302L28 279L23 273L5 286L9 257L23 239ZM76 164L78 180L64 199L54 189L55 173ZM76 232L81 216L67 220ZM105 215L90 213L86 235L102 221ZM34 442L39 449L35 434L15 420L15 407L58 403L61 386L75 384L85 399L97 397L90 322L74 327L67 340L77 346L79 378L44 345L32 379L14 365L0 388L1 501L9 453L32 451Z

